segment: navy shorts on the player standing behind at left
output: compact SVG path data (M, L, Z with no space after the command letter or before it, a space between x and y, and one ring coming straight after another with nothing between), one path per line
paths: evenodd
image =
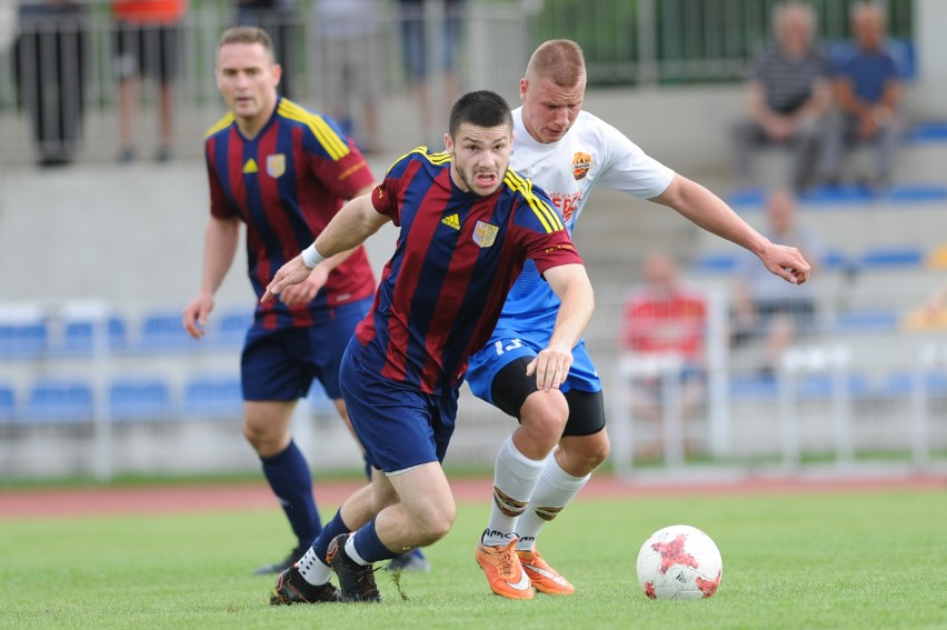
M371 308L366 298L333 309L327 323L247 332L241 359L243 400L298 400L319 379L326 396L342 398L339 363L356 326Z

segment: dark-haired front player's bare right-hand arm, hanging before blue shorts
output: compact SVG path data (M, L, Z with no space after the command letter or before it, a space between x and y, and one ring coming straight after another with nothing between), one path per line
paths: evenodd
M581 264L554 267L547 269L544 276L561 304L549 343L526 368L526 376L531 377L535 372L536 387L550 390L558 389L569 376L572 348L579 342L591 319L595 293L586 268Z

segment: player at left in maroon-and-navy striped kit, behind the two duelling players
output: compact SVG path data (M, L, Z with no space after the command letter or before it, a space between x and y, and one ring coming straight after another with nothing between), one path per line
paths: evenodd
M369 192L375 177L336 123L280 98L281 68L266 31L226 31L217 49L217 86L230 108L206 138L210 219L200 290L183 326L200 339L247 227L247 261L257 298L272 274L312 242L342 203ZM319 379L348 422L339 362L375 291L362 248L327 260L277 301L257 303L241 361L243 434L262 462L296 548L257 573L279 573L309 549L322 529L312 477L290 434L297 400Z

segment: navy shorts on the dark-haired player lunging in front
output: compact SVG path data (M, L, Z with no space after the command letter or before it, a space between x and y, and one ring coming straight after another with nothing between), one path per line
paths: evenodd
M366 460L386 473L443 461L457 419L458 390L436 396L397 383L363 366L360 351L352 339L339 382Z

